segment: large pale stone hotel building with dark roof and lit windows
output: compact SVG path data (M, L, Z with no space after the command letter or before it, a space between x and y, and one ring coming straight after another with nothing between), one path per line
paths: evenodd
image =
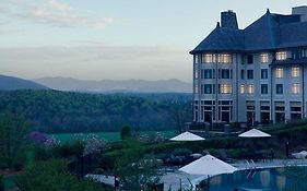
M269 123L307 114L307 7L267 13L244 29L236 13L192 50L193 121ZM305 87L306 86L306 87Z

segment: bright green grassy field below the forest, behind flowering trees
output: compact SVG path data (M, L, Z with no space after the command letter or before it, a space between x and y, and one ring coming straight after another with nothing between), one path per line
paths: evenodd
M175 131L142 131L141 134L154 134L161 133L164 138L173 138L176 135ZM120 140L120 132L98 132L98 133L60 133L60 134L49 134L56 140L60 141L61 143L69 142L73 139L84 139L86 140L91 134L95 134L99 139L104 139L106 141L119 141Z

